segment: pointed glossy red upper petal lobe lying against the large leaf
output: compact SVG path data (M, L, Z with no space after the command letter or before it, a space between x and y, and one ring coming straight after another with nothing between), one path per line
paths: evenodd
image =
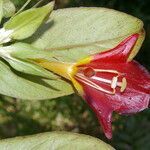
M134 47L139 34L133 34L122 41L115 48L94 55L93 61L96 62L126 62L128 59L132 48Z

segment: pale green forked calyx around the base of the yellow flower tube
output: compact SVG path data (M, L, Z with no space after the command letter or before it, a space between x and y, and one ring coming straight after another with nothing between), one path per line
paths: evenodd
M17 71L50 79L58 78L51 72L29 61L31 57L36 59L52 58L50 52L37 50L29 44L16 43L7 47L0 47L0 56L4 58Z

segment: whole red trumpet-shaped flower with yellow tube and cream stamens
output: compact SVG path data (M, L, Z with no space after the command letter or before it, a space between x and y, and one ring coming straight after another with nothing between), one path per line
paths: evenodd
M136 61L127 61L138 37L131 35L115 48L74 64L38 61L72 81L95 112L108 139L112 138L112 112L133 114L149 105L150 74Z

